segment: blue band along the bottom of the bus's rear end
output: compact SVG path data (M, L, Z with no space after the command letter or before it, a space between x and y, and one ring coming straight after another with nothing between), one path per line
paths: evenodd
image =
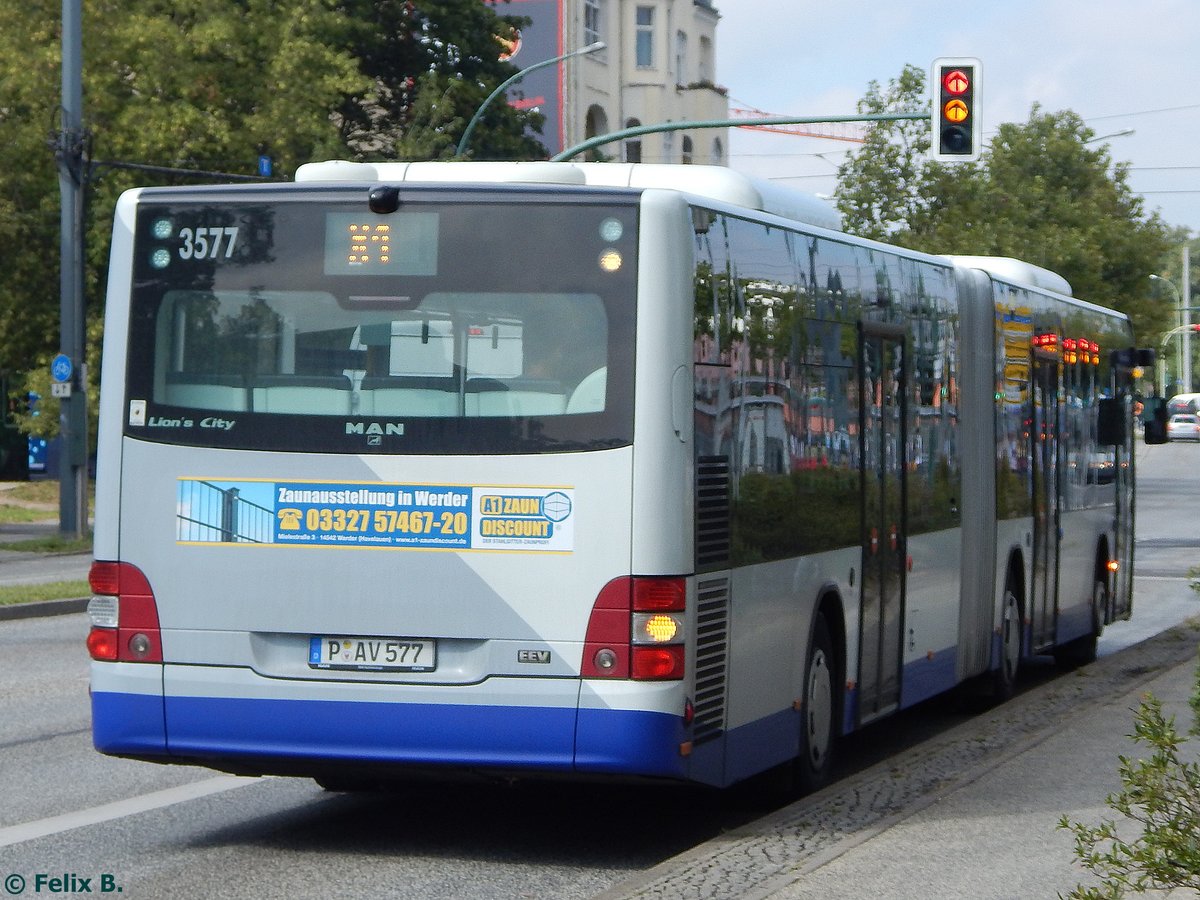
M679 716L566 707L438 706L94 694L107 754L355 760L683 778ZM578 734L576 734L576 726ZM576 754L576 744L578 752Z

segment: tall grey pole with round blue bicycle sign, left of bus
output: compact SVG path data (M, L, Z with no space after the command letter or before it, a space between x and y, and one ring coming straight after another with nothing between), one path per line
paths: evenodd
M83 221L86 180L83 131L83 2L62 0L62 124L54 145L62 197L59 258L60 343L53 374L59 416L59 530L88 533L88 376L83 296Z

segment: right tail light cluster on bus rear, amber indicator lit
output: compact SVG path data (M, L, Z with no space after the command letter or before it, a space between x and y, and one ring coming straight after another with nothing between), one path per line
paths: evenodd
M584 678L680 679L688 586L678 577L622 577L601 588L583 638Z

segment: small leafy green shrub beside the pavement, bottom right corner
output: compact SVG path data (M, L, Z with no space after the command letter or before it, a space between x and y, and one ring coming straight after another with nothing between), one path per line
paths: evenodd
M1200 667L1190 703L1200 714ZM1190 733L1200 733L1200 719ZM1121 790L1105 800L1126 821L1088 826L1063 816L1058 822L1075 838L1075 858L1102 880L1098 887L1072 890L1067 896L1075 900L1177 888L1200 892L1200 764L1182 758L1175 716L1165 716L1153 695L1142 697L1130 737L1150 748L1150 758L1121 756ZM1140 829L1133 838L1130 823Z

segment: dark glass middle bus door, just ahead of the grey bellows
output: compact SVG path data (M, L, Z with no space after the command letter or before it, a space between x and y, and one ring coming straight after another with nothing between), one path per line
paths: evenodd
M1033 414L1030 440L1033 442L1033 586L1028 619L1033 648L1055 640L1058 596L1060 540L1060 414L1058 354L1033 352Z

